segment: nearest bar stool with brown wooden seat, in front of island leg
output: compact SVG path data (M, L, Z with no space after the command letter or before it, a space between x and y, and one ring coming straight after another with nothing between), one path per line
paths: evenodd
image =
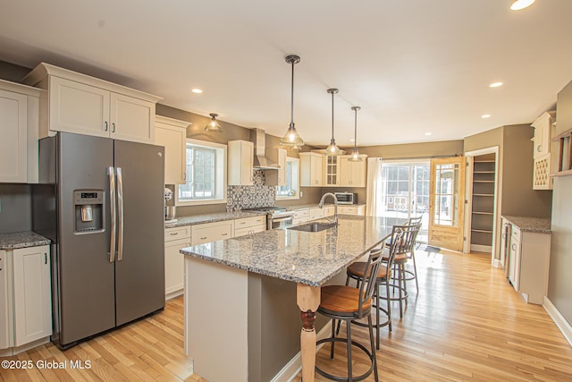
M382 260L383 250L372 250L364 267L364 275L377 275ZM326 373L315 365L315 371L321 376L336 381L359 381L367 378L374 371L375 381L379 380L377 374L377 359L375 355L374 344L374 327L372 325L372 296L376 285L376 278L365 277L363 282L356 288L348 285L328 285L322 287L321 302L317 312L325 317L332 318L332 336L318 341L316 344L332 343L330 349L330 358L333 359L334 345L336 342L345 343L348 350L348 376L340 377ZM356 319L367 318L367 327L369 327L369 342L371 351L366 346L359 344L351 339L351 323ZM346 321L346 338L336 337L336 320ZM365 352L369 357L372 365L365 373L357 377L352 373L352 345Z

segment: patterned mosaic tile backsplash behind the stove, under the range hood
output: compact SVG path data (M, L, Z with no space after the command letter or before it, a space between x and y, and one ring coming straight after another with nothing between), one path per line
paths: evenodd
M276 203L276 187L265 186L265 172L255 170L251 186L228 186L226 210L239 211L242 208L274 206Z

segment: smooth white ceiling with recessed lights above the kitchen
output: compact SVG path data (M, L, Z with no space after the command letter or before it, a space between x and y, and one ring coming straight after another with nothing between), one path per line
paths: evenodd
M41 61L309 144L458 140L530 123L572 80L572 1L3 1L0 60ZM490 89L493 81L504 86ZM204 89L192 94L191 88ZM492 115L482 119L481 115ZM432 132L425 136L425 132Z

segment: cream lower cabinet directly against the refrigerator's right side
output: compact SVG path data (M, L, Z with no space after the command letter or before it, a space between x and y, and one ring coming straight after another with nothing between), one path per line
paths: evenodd
M189 226L164 230L164 294L167 300L183 293L184 255L179 250L189 245Z

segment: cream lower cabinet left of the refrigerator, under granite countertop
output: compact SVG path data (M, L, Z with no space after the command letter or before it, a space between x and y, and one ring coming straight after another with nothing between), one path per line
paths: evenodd
M52 335L49 246L0 250L0 355Z

